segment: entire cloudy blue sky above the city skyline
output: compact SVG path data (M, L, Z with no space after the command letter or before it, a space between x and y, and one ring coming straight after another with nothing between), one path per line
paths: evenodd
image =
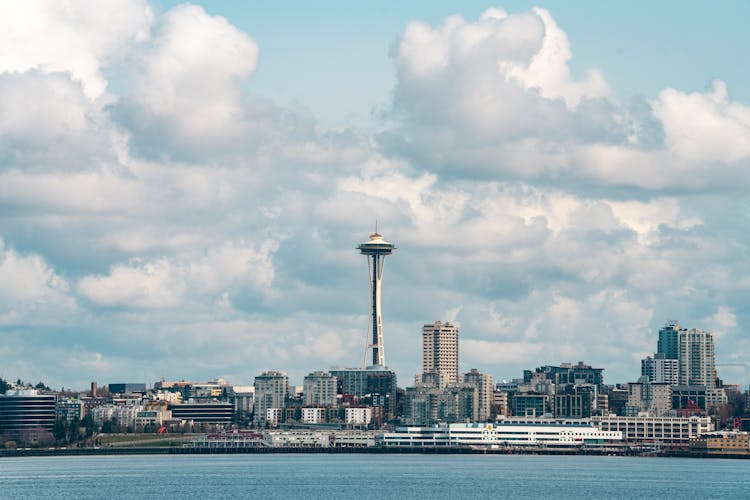
M746 2L97 2L0 19L0 376L386 361L638 378L659 327L746 384Z

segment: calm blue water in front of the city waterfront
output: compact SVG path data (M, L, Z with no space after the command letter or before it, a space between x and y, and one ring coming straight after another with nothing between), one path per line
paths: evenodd
M748 498L750 461L506 455L0 458L2 498Z

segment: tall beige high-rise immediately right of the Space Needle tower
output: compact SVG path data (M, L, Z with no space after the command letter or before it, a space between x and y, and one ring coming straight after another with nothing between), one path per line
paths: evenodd
M422 327L422 373L438 373L444 384L458 379L458 327L436 321Z

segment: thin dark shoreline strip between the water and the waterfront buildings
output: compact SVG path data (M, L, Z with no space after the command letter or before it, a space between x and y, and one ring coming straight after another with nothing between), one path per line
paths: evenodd
M708 453L697 451L613 452L612 450L523 449L505 450L470 447L412 448L195 448L195 447L105 447L105 448L35 448L0 450L3 458L97 456L97 455L239 455L239 454L372 454L372 455L575 455L661 458L730 458L750 459L750 453Z

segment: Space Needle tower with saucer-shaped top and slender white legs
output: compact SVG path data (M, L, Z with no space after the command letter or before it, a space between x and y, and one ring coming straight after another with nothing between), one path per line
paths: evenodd
M370 235L370 241L362 243L357 250L366 257L367 268L370 275L371 298L371 326L368 330L372 332L372 343L365 347L365 364L367 364L367 351L372 349L372 364L374 366L385 366L385 351L383 349L383 318L380 310L380 291L383 287L383 267L386 255L390 255L396 249L396 245L388 243L378 234L377 226L375 233ZM369 333L369 332L368 332Z

